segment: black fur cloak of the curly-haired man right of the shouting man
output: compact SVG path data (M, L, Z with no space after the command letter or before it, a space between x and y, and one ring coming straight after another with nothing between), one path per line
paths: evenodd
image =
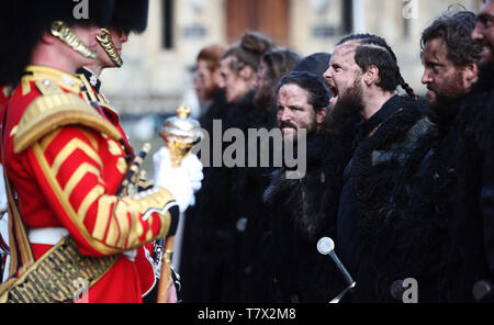
M417 280L418 302L451 301L449 290L453 280L446 270L451 267L447 253L451 248L450 229L457 200L454 156L462 100L445 101L429 112L436 127L424 136L422 149L408 157L411 168L397 180L398 190L392 200L395 209L377 246L382 301L401 302L403 287L392 296L385 284L407 278Z

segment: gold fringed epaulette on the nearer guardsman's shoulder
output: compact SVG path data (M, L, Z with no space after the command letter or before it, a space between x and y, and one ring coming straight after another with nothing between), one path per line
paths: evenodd
M54 82L35 83L42 96L27 107L16 126L14 153L23 152L44 135L66 125L88 126L114 141L121 139L119 130L77 94L64 92Z

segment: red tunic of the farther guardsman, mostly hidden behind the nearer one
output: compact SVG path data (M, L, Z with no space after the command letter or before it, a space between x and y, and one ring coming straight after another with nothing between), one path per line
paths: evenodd
M82 81L82 98L87 102L96 104L101 115L119 130L120 134L122 135L122 142L125 144L125 147L131 150L127 154L134 156L134 152L132 150L128 137L125 134L122 125L120 124L119 113L110 105L106 98L102 93L100 93L101 81L98 76L89 69L81 68L78 70L78 77ZM153 290L155 284L157 284L151 261L153 251L154 245L153 243L148 243L137 249L137 255L135 257L135 264L141 279L141 289L143 291L143 296L146 295L150 290Z

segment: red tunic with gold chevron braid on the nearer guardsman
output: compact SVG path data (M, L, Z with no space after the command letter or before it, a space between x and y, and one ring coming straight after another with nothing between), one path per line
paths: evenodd
M127 170L121 133L82 100L79 79L27 67L9 103L4 167L27 228L65 227L81 254L102 257L175 232L178 208L156 189L114 195ZM32 244L34 258L50 246ZM121 256L89 302L141 302L136 265Z

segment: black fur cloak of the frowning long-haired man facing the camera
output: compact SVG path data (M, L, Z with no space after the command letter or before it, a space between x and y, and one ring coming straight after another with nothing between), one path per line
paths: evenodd
M353 124L346 133L307 137L306 175L287 179L273 171L263 193L269 234L263 246L265 277L276 302L327 303L345 288L329 257L317 251L321 237L336 236L343 168L351 156ZM348 136L350 134L350 136Z

